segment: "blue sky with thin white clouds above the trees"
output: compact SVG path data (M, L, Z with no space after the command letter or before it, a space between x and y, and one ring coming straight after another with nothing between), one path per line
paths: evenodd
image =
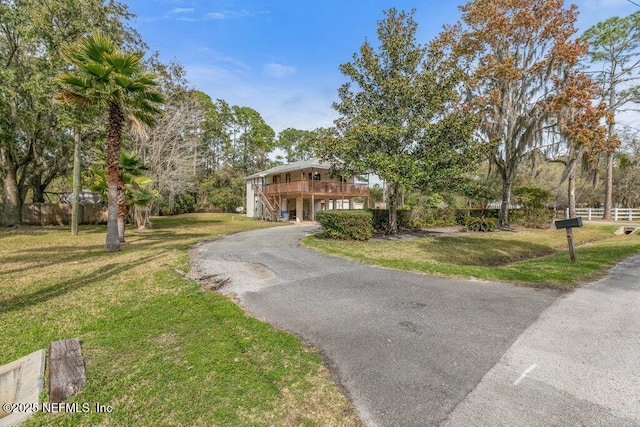
M276 131L330 126L331 108L351 60L390 7L416 9L426 43L460 18L463 1L122 0L150 50L184 65L194 88L214 100L257 110ZM628 0L577 0L580 32L638 6ZM640 1L636 1L640 4Z

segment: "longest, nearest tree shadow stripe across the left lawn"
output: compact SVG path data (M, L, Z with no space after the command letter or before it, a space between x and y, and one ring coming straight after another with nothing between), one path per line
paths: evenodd
M162 255L149 255L144 258L137 258L131 262L101 266L98 271L94 270L88 272L87 274L83 274L81 277L74 277L62 282L55 282L34 292L13 296L2 302L2 306L0 306L0 314L38 305L69 292L105 281L115 275L123 274L132 268L138 267L140 264L150 262L160 256Z

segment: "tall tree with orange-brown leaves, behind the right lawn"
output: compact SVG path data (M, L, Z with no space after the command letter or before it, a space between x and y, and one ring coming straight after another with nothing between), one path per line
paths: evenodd
M563 0L474 0L436 43L467 70L463 88L479 132L495 143L490 159L502 179L500 225L509 225L511 188L521 163L541 143L557 78L586 52L576 41L576 6Z

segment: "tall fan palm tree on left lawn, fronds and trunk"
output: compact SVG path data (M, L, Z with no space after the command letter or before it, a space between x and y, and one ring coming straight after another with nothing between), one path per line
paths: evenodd
M107 239L108 252L120 250L118 181L120 145L126 120L141 127L153 123L164 100L155 91L155 76L144 69L142 52L125 52L103 34L86 37L65 53L73 70L60 75L57 99L107 113Z

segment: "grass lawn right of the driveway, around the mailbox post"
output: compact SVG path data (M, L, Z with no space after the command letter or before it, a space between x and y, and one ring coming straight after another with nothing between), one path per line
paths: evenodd
M578 262L569 260L564 230L460 233L391 241L338 241L308 236L317 250L365 264L445 277L570 289L603 277L640 252L640 236L615 236L617 226L574 229Z

